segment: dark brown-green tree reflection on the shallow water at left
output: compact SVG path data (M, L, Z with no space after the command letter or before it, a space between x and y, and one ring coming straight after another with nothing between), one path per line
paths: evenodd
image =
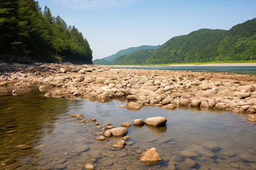
M25 97L13 96L7 90L2 94L5 96L0 97L0 155L5 156L1 163L13 169L32 162L38 154L33 146L45 134L52 133L57 117L67 105L65 100L48 99L39 91L27 92ZM26 162L20 159L28 155Z

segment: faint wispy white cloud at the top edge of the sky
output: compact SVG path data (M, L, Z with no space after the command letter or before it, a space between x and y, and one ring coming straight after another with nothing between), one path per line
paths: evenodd
M71 8L114 7L138 0L53 0L54 3Z

